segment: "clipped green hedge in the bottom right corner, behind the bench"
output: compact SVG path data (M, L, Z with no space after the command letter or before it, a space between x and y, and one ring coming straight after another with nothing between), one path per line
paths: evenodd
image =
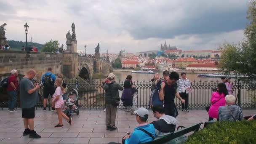
M256 120L216 122L193 133L185 144L255 144Z

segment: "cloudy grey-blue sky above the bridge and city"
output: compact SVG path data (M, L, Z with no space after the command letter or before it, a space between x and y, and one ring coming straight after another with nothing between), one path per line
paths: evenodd
M161 43L182 50L218 48L245 37L247 0L0 0L0 24L8 40L65 44L72 22L77 48L94 53L159 50Z

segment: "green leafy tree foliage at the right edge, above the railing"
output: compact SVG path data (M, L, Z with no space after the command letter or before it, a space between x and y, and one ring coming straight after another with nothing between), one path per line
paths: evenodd
M225 72L235 72L256 78L256 1L248 4L247 17L249 21L244 33L247 40L240 44L224 43L220 60L221 69Z

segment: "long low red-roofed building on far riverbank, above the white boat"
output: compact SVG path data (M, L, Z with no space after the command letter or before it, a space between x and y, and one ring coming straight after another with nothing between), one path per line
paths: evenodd
M218 71L219 68L215 64L189 64L186 70L193 71Z

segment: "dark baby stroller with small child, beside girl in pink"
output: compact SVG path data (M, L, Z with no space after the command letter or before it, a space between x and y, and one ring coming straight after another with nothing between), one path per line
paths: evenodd
M74 104L76 107L74 107ZM76 113L79 115L79 109L78 109L78 91L77 88L71 89L66 94L66 100L65 100L65 111L64 113L70 117L72 113Z

